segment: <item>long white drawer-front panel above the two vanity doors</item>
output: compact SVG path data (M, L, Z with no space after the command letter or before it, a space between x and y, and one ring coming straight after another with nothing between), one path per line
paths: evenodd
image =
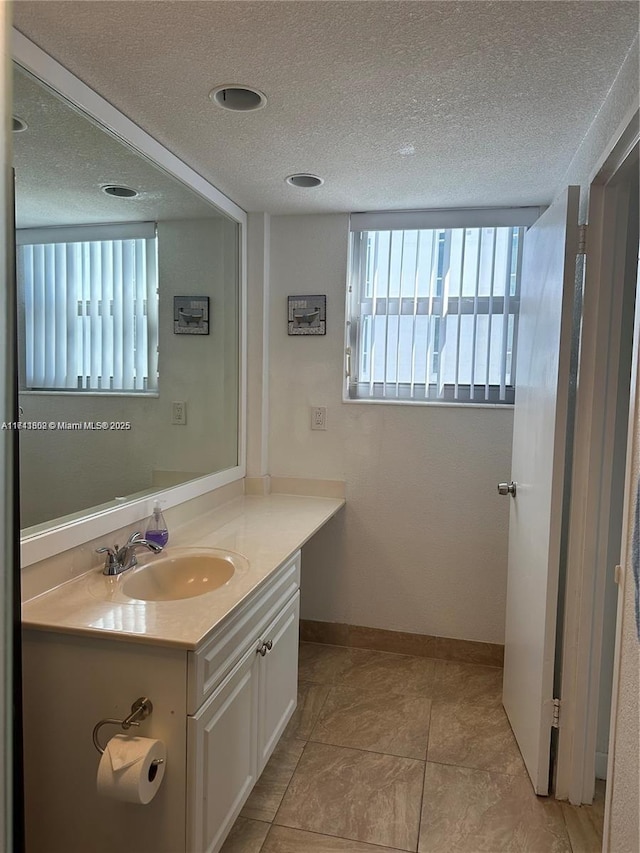
M204 700L231 671L247 644L261 632L300 586L300 552L277 569L233 616L225 620L204 645L188 655L187 713L195 714Z

